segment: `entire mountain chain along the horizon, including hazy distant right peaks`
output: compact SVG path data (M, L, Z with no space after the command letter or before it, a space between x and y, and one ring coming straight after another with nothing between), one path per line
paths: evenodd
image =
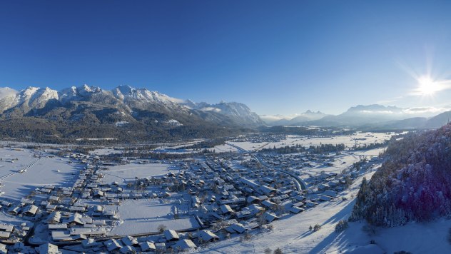
M173 98L146 88L71 86L56 91L0 88L0 138L67 142L83 138L123 142L234 135L258 126L350 127L361 130L438 128L451 111L359 105L339 115L305 111L292 118L258 116L243 103ZM263 121L263 120L265 121Z

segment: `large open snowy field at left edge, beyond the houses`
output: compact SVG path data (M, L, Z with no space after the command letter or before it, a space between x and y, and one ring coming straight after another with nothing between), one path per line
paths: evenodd
M0 149L1 197L20 200L31 191L53 184L56 186L71 186L78 177L82 166L69 164L67 159L34 158L34 152L29 150L11 151ZM6 162L13 160L14 162ZM17 160L16 160L17 159ZM24 169L23 173L19 173Z

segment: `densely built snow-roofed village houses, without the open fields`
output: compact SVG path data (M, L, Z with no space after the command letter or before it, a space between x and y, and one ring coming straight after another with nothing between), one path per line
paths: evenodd
M252 142L275 142L285 139L285 135L240 138ZM249 153L223 153L199 161L172 161L179 163L180 170L164 176L106 183L102 179L108 173L108 163L81 153L68 156L74 160L72 163L83 165L73 186L42 186L18 204L0 200L1 208L9 215L20 215L34 221L34 224L23 223L21 226L0 224L0 240L4 243L16 242L17 246L10 246L9 250L59 253L58 245L65 245L61 248L66 250L95 253L192 250L205 243L228 238L230 234L240 235L255 228L270 228L268 224L273 220L290 213L302 213L320 202L332 200L343 191L348 181L360 175L357 171L345 175L320 173L305 179L310 183L310 188L301 191L293 175L283 171L296 173L296 170L313 164L330 163L333 156L306 153L280 156L268 153L260 155L267 164L262 166ZM129 163L128 158L123 161ZM143 164L151 162L137 161ZM138 198L178 199L178 203L188 210L175 209L175 216L194 216L200 228L184 233L168 229L158 235L149 232L149 235L140 236L108 236L109 230L121 219L117 210L111 207L121 205L124 199ZM44 243L42 240L49 243L27 249L29 247L21 241L33 227L36 239L41 240L39 243ZM66 243L78 244L66 246ZM2 250L0 245L0 253Z

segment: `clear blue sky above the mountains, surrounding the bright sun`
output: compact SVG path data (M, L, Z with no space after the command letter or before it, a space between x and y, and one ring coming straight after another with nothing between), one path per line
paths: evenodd
M0 1L0 86L145 87L259 114L451 107L450 1Z

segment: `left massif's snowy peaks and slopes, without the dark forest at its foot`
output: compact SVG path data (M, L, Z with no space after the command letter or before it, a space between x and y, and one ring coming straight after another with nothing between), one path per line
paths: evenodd
M34 116L59 121L91 119L98 123L153 121L163 124L173 120L180 123L177 126L206 121L245 127L263 123L243 103L195 103L131 86L118 86L111 91L88 85L61 91L48 87L29 87L21 91L1 88L0 113L8 117Z

